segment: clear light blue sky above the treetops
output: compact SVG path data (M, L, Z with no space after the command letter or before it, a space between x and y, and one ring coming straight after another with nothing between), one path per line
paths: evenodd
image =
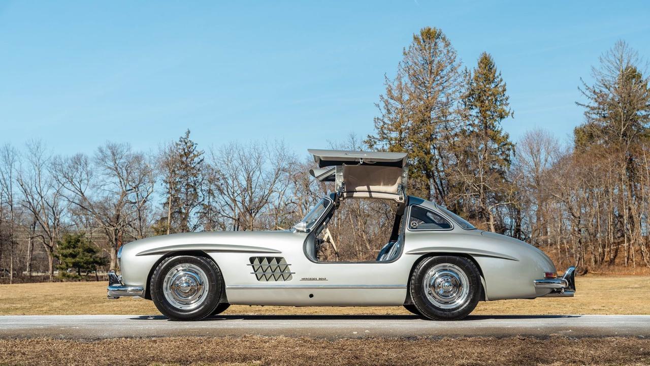
M383 75L424 26L467 66L493 55L513 139L566 139L601 53L622 38L650 57L649 4L0 0L0 143L155 150L190 128L203 148L283 139L306 154L372 132Z

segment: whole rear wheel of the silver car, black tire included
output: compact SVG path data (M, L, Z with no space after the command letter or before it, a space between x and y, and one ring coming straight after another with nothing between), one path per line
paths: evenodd
M424 283L434 283L435 293ZM450 255L422 260L411 273L409 292L413 305L432 320L459 320L474 310L481 294L476 264Z

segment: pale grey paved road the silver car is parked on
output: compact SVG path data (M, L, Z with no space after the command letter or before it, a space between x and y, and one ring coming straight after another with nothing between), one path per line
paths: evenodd
M470 316L435 322L408 315L225 315L200 322L162 316L0 316L0 338L105 339L226 335L285 335L326 339L360 337L650 337L650 315Z

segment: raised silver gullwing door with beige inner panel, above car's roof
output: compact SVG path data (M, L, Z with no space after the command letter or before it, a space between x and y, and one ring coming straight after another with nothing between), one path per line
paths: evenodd
M335 182L339 199L378 198L404 202L406 152L317 150L310 148L318 169L309 174Z

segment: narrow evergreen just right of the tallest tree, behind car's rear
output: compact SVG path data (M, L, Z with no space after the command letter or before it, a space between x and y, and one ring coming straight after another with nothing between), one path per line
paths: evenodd
M512 117L506 83L492 57L484 52L473 71L465 70L461 93L461 116L465 128L458 132L459 152L450 184L458 206L480 224L495 231L495 209L509 204L510 169L514 145L503 132L501 121Z

